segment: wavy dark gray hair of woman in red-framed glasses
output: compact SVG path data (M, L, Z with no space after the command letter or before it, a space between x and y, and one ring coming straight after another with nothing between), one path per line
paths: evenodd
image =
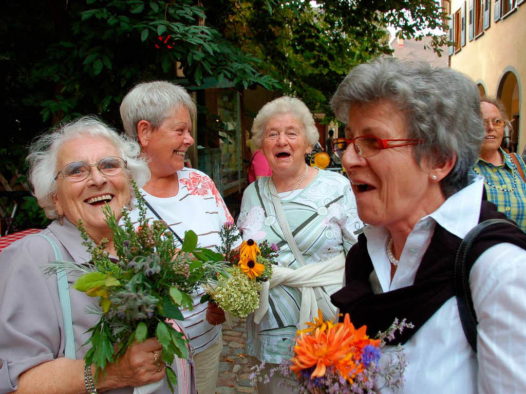
M360 64L343 79L332 97L332 110L343 122L355 105L387 99L406 116L408 138L424 140L413 146L417 163L457 162L441 181L446 197L468 185L484 138L480 95L475 83L451 68L436 68L423 61L379 57Z

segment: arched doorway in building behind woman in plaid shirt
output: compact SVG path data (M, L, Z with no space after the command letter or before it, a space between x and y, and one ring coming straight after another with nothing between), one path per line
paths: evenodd
M502 101L508 118L510 119L510 126L512 130L510 134L511 146L510 150L517 152L517 144L519 143L519 111L520 111L520 87L517 75L513 71L505 72L502 76L497 90L497 97ZM520 152L519 152L520 153Z

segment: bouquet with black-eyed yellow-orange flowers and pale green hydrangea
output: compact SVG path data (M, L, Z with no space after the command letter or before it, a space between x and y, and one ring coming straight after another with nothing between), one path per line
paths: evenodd
M278 247L268 245L265 240L259 245L252 239L244 241L238 250L233 250L232 233L235 226L227 223L220 236L222 248L219 248L231 266L225 275L219 275L216 281L209 281L204 300L213 300L230 315L245 318L259 306L261 282L272 276L272 265L278 256ZM201 300L203 301L203 299Z

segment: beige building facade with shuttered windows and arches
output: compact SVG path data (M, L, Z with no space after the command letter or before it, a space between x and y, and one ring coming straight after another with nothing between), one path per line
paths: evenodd
M526 0L442 0L450 15L450 67L470 76L481 95L501 99L512 146L526 144Z

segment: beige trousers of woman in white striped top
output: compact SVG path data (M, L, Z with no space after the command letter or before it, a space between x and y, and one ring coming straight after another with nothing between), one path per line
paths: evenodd
M196 387L199 394L215 394L222 349L223 337L221 332L214 345L194 355Z

